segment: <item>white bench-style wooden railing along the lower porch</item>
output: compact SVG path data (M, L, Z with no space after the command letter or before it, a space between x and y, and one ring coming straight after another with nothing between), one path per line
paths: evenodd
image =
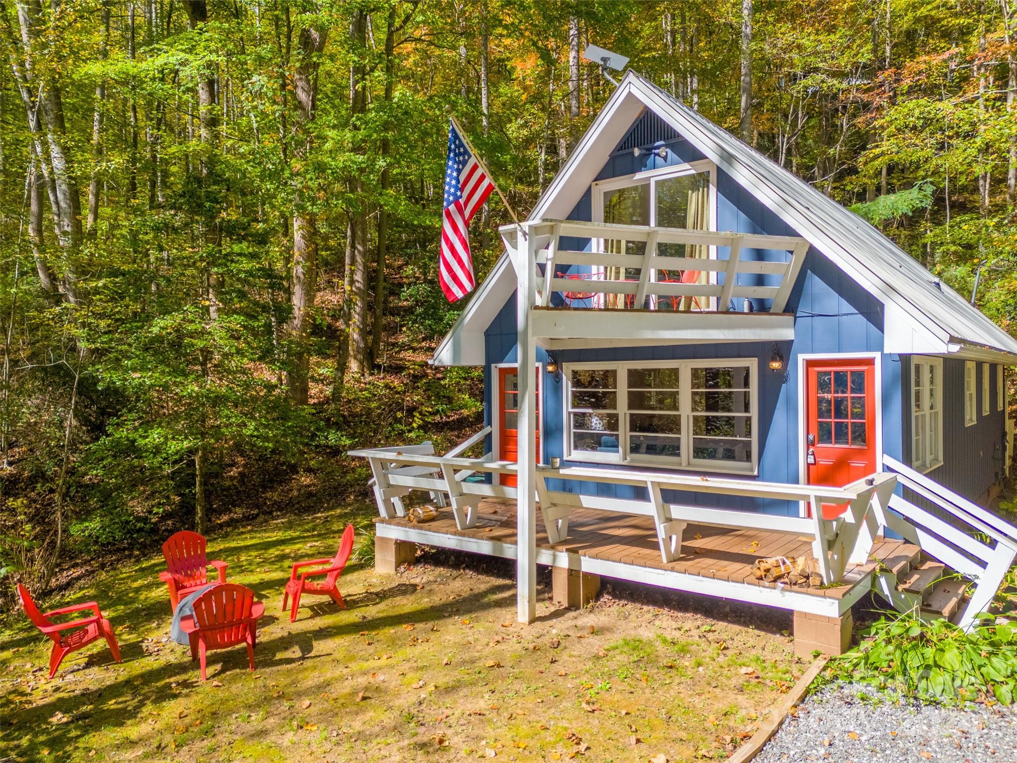
M517 497L516 487L500 484L500 476L515 474L517 465L492 461L489 455L482 459L468 459L411 452L410 448L351 451L350 455L369 461L374 475L378 513L386 519L406 515L402 497L412 490L444 496L461 530L476 525L477 507L482 498ZM484 481L475 477L469 479L474 475L486 476ZM587 492L551 490L547 482L549 479L587 483L590 489ZM664 562L673 562L680 555L682 533L690 524L764 529L811 538L824 582L834 583L841 580L849 564L869 561L869 551L876 537L871 505L878 496L885 500L893 491L894 482L892 474L874 474L844 487L825 487L664 472L541 466L537 469L536 498L552 544L567 538L569 516L576 509L650 517L656 527ZM589 494L596 493L597 484L645 488L647 497L612 498ZM687 506L666 501L666 490L803 502L810 507L811 516L787 517ZM846 505L846 510L836 519L823 519L824 504Z

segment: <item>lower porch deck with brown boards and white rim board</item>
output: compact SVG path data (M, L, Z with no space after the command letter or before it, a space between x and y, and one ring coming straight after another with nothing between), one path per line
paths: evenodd
M423 524L413 524L404 518L376 519L377 532L429 545L516 556L515 502L483 500L478 508L477 525L467 530L458 529L452 510L442 509L439 514L437 519ZM896 556L913 548L903 541L881 539L874 548L874 556L892 566ZM566 566L608 577L817 613L846 610L869 590L871 573L876 568L875 561L850 565L841 585L824 588L768 583L753 577L756 560L812 556L811 538L786 532L700 525L685 528L681 555L674 562L665 563L661 560L656 529L649 517L584 509L572 512L569 537L554 545L548 542L538 511L537 550L538 564ZM701 581L699 584L697 579ZM813 600L812 603L806 599Z

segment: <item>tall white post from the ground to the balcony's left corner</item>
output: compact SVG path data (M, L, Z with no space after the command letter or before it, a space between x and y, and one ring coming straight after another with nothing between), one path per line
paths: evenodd
M517 618L537 618L537 346L530 331L536 300L536 252L533 231L524 229L516 269L517 361L519 373L519 466L517 471ZM546 287L545 287L546 288Z

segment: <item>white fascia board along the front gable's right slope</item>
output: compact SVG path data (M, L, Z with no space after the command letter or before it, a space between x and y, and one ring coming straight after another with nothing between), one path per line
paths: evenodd
M797 231L802 237L819 249L823 254L830 257L841 268L851 279L853 279L865 291L879 299L885 305L905 302L906 307L912 307L909 302L903 300L901 295L885 288L885 284L879 279L870 278L863 265L847 252L837 241L822 227L810 220L807 216L799 216L796 210L790 209L780 197L780 194L769 187L764 178L753 173L739 161L734 159L723 145L718 144L711 135L704 133L700 126L683 114L676 111L670 104L661 101L651 90L643 86L641 79L633 75L631 78L631 91L644 100L644 103L657 116L671 125L686 140L702 151L707 158L727 172L742 188L752 193L771 212L786 222L791 228ZM623 81L622 84L625 82ZM732 139L736 139L732 136ZM917 315L910 314L906 308L900 312L902 318L912 327L916 335L925 335L924 341L936 343L946 342L949 335L940 327L930 326ZM889 352L889 350L887 350Z

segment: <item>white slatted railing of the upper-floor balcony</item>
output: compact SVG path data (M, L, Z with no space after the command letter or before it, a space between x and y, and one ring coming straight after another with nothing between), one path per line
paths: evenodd
M781 312L804 261L809 243L792 236L714 232L607 223L542 220L525 223L534 237L536 304L726 312L745 300ZM502 231L515 250L519 231ZM584 250L564 241L587 241ZM631 246L631 245L635 246ZM631 253L640 248L642 253ZM666 254L683 246L685 256ZM750 256L751 250L784 252L783 259ZM705 256L687 256L699 251Z

